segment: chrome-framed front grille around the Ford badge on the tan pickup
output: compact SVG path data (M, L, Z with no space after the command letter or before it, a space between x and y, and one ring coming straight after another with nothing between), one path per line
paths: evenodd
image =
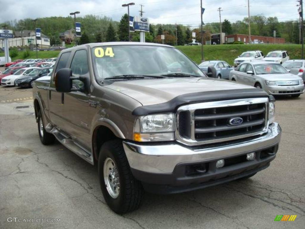
M267 132L268 98L224 100L181 106L176 139L188 145L210 144ZM242 119L239 125L231 119Z

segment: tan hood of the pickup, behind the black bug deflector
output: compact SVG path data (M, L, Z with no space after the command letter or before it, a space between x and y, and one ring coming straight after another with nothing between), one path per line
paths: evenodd
M142 105L165 103L173 98L196 92L249 89L251 86L216 78L162 78L113 82L105 85L123 93Z

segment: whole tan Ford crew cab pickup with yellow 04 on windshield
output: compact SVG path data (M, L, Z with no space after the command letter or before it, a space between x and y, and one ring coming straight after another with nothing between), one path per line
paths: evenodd
M281 137L273 96L207 78L168 45L65 49L33 96L42 144L56 138L97 163L116 213L137 209L144 190L179 193L253 176L270 165Z

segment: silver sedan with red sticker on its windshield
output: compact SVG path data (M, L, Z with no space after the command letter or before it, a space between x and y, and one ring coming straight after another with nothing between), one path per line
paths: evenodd
M304 93L302 78L289 73L281 64L267 61L242 63L230 72L229 79L262 88L271 95L298 97Z

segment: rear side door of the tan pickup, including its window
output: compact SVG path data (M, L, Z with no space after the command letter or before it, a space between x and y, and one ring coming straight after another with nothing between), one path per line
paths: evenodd
M57 92L55 88L55 74L60 69L65 68L71 56L71 52L62 53L57 65L56 70L53 71L50 87L48 89L48 103L49 103L49 116L53 125L65 130L66 117L63 116L64 109L64 93Z

